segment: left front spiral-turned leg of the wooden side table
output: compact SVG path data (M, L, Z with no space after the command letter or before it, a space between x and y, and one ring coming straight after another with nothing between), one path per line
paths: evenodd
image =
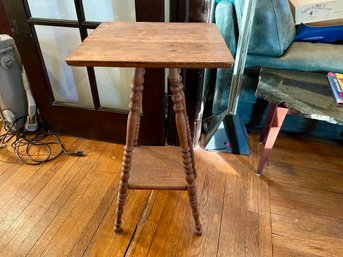
M124 157L117 198L117 217L115 221L115 232L117 233L122 230L121 218L124 210L125 200L127 197L128 180L130 177L133 148L135 144L136 134L138 133L137 130L139 126L138 123L140 117L140 105L142 101L144 73L144 68L136 68L132 78L130 95L130 113L127 119L126 144L124 147Z

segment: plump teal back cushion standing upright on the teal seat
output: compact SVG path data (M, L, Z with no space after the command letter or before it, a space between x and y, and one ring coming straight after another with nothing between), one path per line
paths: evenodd
M244 2L235 0L239 28ZM257 0L248 53L281 56L294 36L294 19L287 0Z

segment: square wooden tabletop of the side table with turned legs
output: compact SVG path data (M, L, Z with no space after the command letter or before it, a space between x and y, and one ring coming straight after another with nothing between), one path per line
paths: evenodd
M214 24L107 22L66 62L72 66L225 68L234 60Z

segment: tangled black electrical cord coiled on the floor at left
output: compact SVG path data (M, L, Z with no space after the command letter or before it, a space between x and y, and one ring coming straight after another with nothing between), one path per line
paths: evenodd
M19 117L11 125L7 125L6 132L0 135L0 148L6 146L9 142L14 140L11 143L11 147L21 162L29 165L39 165L55 160L63 153L77 157L84 156L82 151L67 151L61 139L57 135L50 132L26 132L23 130L13 130L15 123L24 118L26 117ZM56 145L59 148L57 152L55 149L56 147L54 147ZM44 158L34 157L30 153L30 150L33 147L39 148L38 152L40 152L42 149L45 149L46 151Z

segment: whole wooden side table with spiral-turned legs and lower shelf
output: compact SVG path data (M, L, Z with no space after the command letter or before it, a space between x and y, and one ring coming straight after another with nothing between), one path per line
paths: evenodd
M188 191L195 231L200 235L192 139L179 68L232 66L233 58L217 27L206 23L102 23L66 62L74 66L136 67L131 85L115 231L122 230L128 189L168 189ZM137 147L134 151L139 135L144 68L169 68L183 168L174 161L178 155L175 147L168 147L168 151L163 149L165 146ZM173 168L163 170L170 166Z

